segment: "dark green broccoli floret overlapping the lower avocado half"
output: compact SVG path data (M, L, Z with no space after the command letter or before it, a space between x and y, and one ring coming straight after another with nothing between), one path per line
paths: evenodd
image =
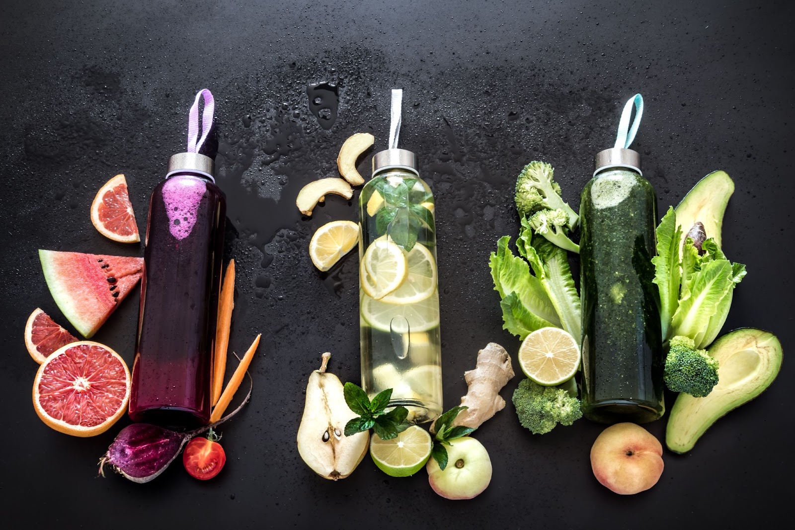
M672 392L704 397L718 384L718 360L705 349L696 349L688 337L673 337L665 357L665 386Z

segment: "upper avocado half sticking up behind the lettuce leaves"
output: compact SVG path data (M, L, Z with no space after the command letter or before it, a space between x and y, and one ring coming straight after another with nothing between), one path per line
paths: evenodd
M723 248L720 231L723 228L723 213L729 197L735 192L735 183L725 171L713 171L688 191L677 205L677 223L682 225L682 241L694 224L704 225L706 236L715 239L718 247ZM681 244L679 247L681 248Z

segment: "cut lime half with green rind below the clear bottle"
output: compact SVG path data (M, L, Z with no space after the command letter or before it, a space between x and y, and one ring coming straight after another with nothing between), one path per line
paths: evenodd
M370 457L379 470L390 477L410 477L425 466L431 457L431 435L413 425L391 440L370 437Z

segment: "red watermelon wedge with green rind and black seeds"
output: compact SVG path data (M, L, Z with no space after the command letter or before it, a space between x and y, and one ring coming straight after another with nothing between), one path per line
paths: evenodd
M144 269L143 258L39 250L52 298L64 317L90 338L126 298Z

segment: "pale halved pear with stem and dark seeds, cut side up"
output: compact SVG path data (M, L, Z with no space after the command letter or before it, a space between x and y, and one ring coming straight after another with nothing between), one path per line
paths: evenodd
M345 424L357 415L345 403L339 378L326 372L329 357L331 353L324 353L320 369L309 376L297 440L306 465L335 481L353 473L362 462L370 446L370 431L345 435Z

